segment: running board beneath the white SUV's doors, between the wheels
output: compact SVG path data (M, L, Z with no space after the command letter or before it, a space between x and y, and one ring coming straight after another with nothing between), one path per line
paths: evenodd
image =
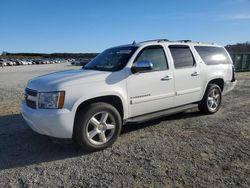
M167 110L153 112L153 113L150 113L150 114L140 115L140 116L136 116L136 117L132 117L132 118L127 119L124 124L126 124L126 123L135 123L135 122L136 123L141 123L141 122L157 119L157 118L160 118L160 117L163 117L163 116L167 116L167 115L175 114L175 113L178 113L178 112L182 112L182 111L188 110L190 108L195 108L195 107L197 107L197 104L188 104L188 105L184 105L184 106L170 108L170 109L167 109Z

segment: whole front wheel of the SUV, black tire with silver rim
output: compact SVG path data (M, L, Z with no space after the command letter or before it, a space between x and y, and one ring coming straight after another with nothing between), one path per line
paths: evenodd
M111 146L120 135L121 116L107 103L93 103L76 116L74 140L87 151L98 151Z

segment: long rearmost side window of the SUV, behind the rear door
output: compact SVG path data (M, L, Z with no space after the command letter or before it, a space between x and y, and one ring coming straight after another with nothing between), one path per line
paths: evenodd
M229 64L231 63L228 54L222 47L195 46L201 59L207 65Z

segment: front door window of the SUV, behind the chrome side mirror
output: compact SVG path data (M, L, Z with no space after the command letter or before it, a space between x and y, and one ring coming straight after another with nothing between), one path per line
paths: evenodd
M153 71L168 69L165 52L162 47L150 47L144 49L136 59L139 61L150 61L153 63Z

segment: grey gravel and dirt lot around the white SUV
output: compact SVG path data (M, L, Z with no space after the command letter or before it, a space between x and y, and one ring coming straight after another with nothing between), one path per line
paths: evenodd
M250 187L250 73L210 116L197 109L123 127L85 153L33 132L20 115L28 79L69 65L0 70L0 187Z

